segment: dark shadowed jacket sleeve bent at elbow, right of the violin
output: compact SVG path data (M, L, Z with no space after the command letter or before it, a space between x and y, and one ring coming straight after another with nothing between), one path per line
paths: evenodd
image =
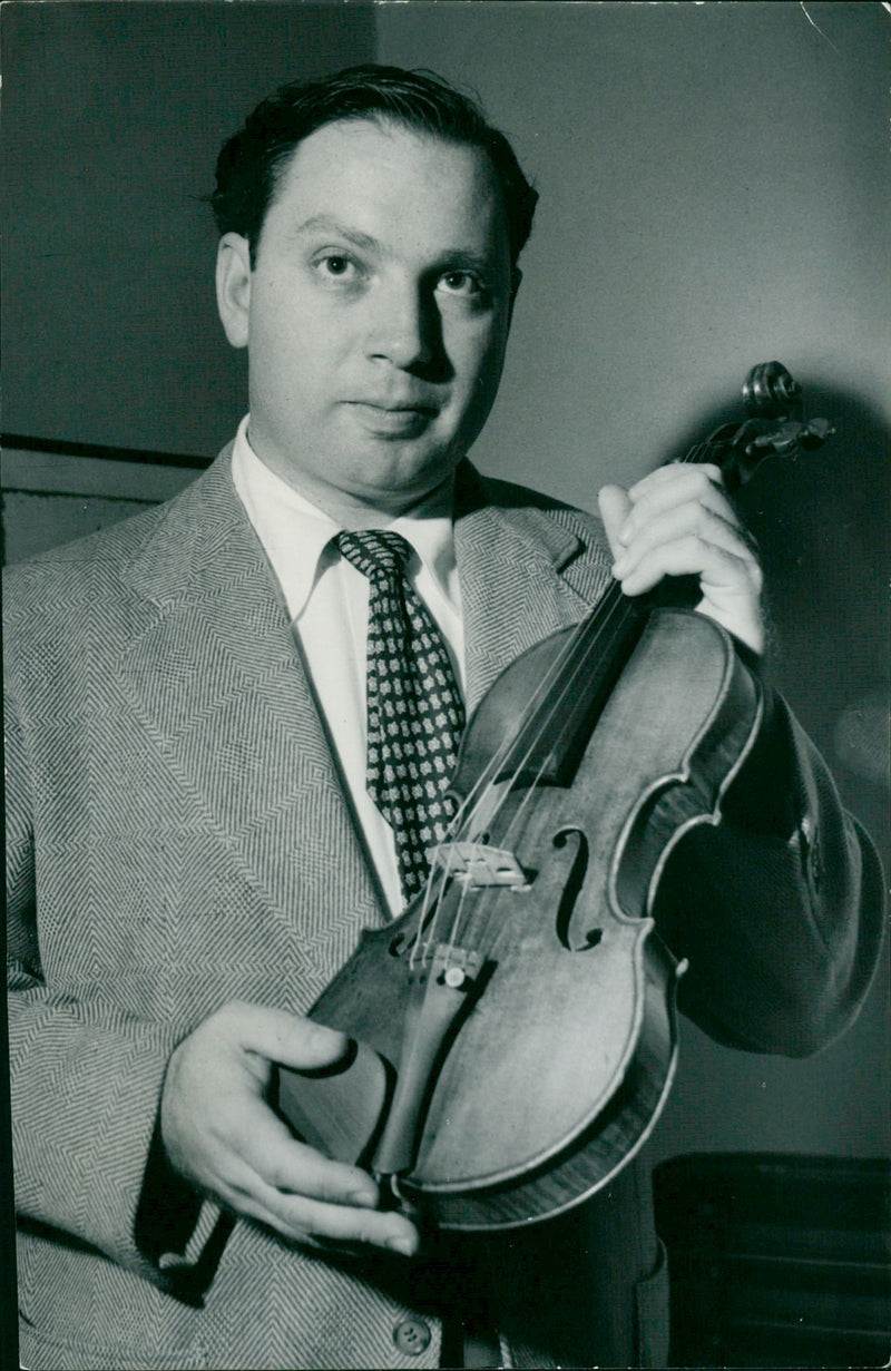
M655 917L689 960L680 1008L729 1046L807 1056L857 1016L884 925L872 842L785 701L764 687L755 744L717 827L677 845Z

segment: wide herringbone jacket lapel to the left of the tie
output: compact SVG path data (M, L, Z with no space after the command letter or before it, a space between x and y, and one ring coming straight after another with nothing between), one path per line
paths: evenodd
M317 993L384 914L229 451L169 506L127 579L152 610L125 688L241 877L299 928Z

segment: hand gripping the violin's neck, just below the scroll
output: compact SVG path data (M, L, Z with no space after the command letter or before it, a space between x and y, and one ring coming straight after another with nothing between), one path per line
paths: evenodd
M764 653L764 577L718 466L661 466L628 491L605 485L598 499L615 557L613 574L626 595L652 590L663 576L695 574L702 590L696 609L757 655Z

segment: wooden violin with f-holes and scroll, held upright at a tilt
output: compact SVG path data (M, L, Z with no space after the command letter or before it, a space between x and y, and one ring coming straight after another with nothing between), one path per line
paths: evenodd
M818 447L779 362L747 418L684 461L735 488ZM761 687L710 618L613 584L514 661L472 716L455 818L426 890L367 930L310 1017L351 1038L322 1072L280 1068L280 1113L443 1228L551 1217L606 1185L652 1130L677 1063L685 969L652 908L669 854L721 799ZM642 603L643 602L643 603Z

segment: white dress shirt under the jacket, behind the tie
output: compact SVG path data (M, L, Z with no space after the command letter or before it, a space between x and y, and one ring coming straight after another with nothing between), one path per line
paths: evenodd
M248 422L245 415L232 454L234 487L281 585L381 897L398 914L403 899L392 829L365 784L369 580L329 546L341 525L259 459L248 441ZM439 624L463 692L463 622L451 498L439 495L387 526L413 547L406 574Z

